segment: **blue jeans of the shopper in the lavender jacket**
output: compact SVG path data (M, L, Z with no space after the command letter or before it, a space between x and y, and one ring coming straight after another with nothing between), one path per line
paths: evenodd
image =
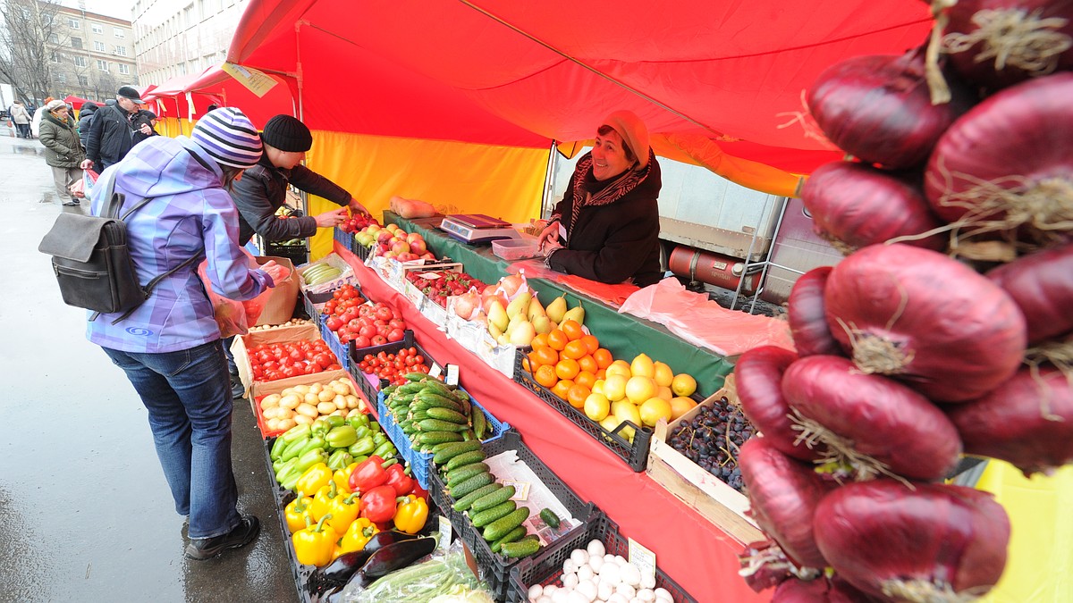
M149 411L157 457L175 499L190 516L191 539L238 526L231 467L231 380L219 341L163 354L104 348Z

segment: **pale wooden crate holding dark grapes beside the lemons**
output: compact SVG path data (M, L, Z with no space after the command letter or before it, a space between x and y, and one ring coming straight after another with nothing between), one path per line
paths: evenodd
M731 380L732 376L726 379ZM647 473L657 484L696 510L735 541L748 544L766 539L756 524L745 514L749 509L749 499L667 443L671 430L684 422L692 421L701 412L701 407L718 403L721 397L727 395L727 389L724 387L716 392L670 425L663 421L656 425L648 452Z

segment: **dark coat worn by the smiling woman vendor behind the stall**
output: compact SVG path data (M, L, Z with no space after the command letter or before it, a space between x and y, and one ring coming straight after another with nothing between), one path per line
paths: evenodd
M574 179L553 214L570 232L565 249L553 253L552 268L587 279L619 283L633 278L634 284L647 286L659 282L660 210L657 198L663 181L655 160L648 177L614 203L583 207L577 224L570 229L574 204Z

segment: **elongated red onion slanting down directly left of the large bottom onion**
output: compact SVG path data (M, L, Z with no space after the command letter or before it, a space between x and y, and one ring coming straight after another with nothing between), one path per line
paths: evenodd
M749 492L749 514L797 568L826 568L812 538L812 513L833 488L812 466L779 452L767 438L750 438L737 457Z

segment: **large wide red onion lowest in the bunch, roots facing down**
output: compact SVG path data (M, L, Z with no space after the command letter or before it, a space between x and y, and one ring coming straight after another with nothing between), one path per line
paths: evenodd
M942 484L848 484L812 523L836 575L897 601L982 595L1002 575L1010 541L1010 519L989 494Z

